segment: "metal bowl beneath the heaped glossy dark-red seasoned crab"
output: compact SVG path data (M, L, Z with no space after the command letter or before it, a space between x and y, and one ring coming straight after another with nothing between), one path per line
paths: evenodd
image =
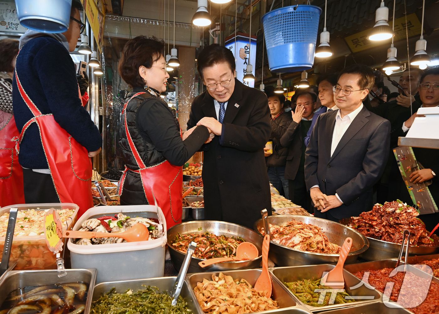
M350 218L345 218L340 220L343 225L349 224ZM397 258L399 251L401 249L400 244L382 241L374 238L369 238L369 249L366 252L360 254L360 257L364 260L374 261L374 260L387 260L390 258ZM439 237L437 235L432 235L435 246L410 246L409 256L414 255L428 255L434 254L439 250ZM404 247L403 255L405 255L406 249Z

